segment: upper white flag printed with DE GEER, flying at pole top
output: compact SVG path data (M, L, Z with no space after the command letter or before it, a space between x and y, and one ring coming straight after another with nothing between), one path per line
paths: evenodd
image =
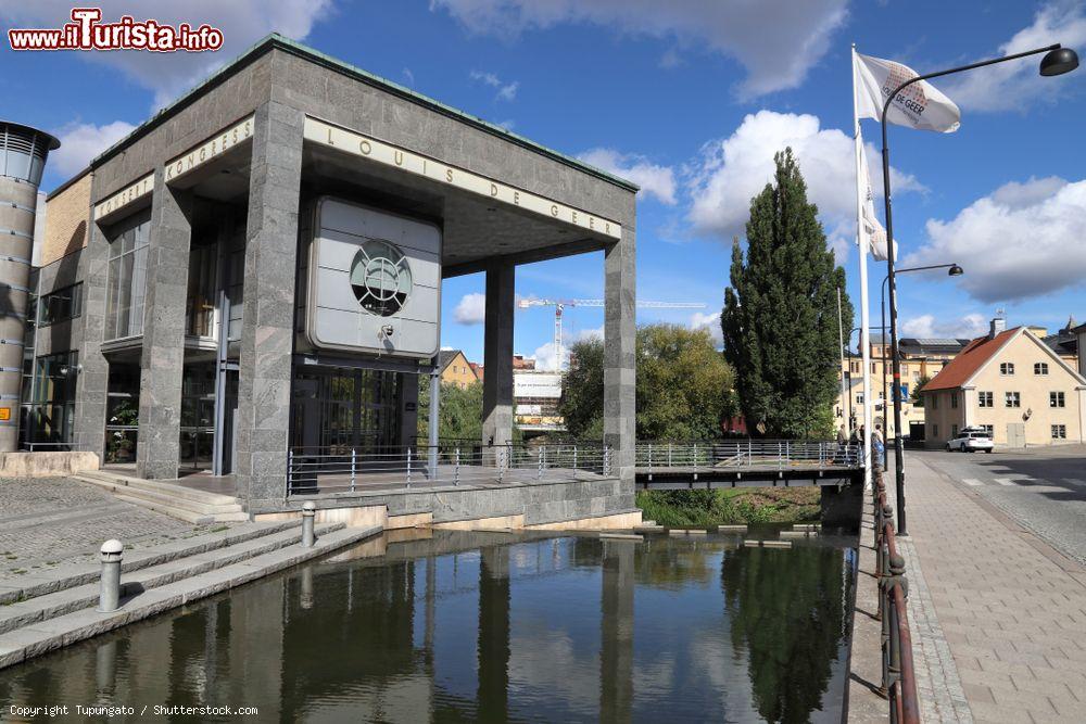
M856 53L856 105L858 117L882 119L882 107L895 88L917 72L907 65ZM950 134L961 125L955 102L926 80L901 90L886 111L886 120L899 126Z

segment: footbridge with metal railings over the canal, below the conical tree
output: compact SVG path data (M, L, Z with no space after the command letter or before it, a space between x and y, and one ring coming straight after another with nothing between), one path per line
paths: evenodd
M842 485L861 479L860 449L833 441L642 441L636 483L665 491Z

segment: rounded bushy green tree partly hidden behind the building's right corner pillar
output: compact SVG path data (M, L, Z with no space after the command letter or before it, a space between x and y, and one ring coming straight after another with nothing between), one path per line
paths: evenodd
M646 440L706 440L720 435L731 412L734 374L705 330L678 325L637 329L636 428ZM570 351L559 410L577 437L603 433L604 343L583 340Z

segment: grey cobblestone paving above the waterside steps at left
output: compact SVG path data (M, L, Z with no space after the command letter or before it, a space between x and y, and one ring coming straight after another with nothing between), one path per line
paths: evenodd
M0 580L60 562L92 561L109 538L138 548L211 528L124 503L66 478L0 481Z

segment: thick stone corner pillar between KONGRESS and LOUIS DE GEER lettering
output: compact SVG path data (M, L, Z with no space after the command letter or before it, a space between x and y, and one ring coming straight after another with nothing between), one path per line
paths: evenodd
M287 492L303 122L269 101L253 127L235 468L250 511Z

